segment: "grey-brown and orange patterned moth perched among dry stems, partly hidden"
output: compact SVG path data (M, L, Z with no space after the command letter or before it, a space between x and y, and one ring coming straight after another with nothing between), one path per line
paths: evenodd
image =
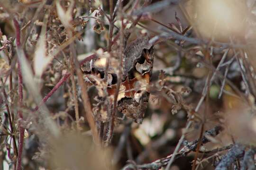
M119 88L117 109L135 122L141 124L147 109L149 100L149 85L152 77L154 47L149 44L149 37L137 38L129 43L124 50L122 82ZM90 63L82 65L85 74L96 74L99 78L104 78L105 68L99 67L97 62L99 57L92 59ZM111 69L110 69L111 70ZM110 103L113 103L114 94L117 89L118 75L115 71L110 71L107 89L99 90L98 93L107 93ZM91 80L91 79L90 79ZM93 84L102 85L102 81L93 81ZM99 110L98 110L99 111Z

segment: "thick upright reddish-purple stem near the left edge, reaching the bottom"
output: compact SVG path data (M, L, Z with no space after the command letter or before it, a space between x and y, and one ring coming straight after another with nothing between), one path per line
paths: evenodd
M21 49L21 43L20 43L20 26L18 24L18 21L14 18L13 19L14 26L15 26L15 32L16 32L16 46L17 49ZM19 119L23 119L23 114L21 111L21 108L23 106L23 77L21 73L20 68L20 61L18 59L18 116ZM25 128L22 127L21 122L18 123L19 128L19 140L18 140L18 162L17 162L17 170L21 170L21 156L23 151L23 142L24 142L24 132Z

